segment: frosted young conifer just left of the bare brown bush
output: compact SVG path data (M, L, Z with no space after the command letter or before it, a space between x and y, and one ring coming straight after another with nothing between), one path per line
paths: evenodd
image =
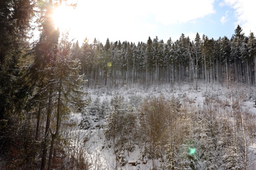
M114 147L116 161L120 165L125 165L124 153L133 152L135 145L137 116L131 107L125 107L123 97L115 95L112 100L112 111L110 112L104 134Z

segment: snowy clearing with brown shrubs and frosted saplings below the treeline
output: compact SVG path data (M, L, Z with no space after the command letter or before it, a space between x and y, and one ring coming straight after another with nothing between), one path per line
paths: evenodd
M93 133L88 150L93 159L96 159L94 161L96 169L152 169L152 167L185 169L185 166L188 169L231 169L232 167L244 169L242 152L245 150L235 152L231 148L226 148L227 143L232 143L229 141L231 137L229 135L234 129L233 114L236 114L237 118L238 112L244 114L240 115L244 116L244 120L240 117L239 121L246 122L237 122L237 125L240 124L238 128L241 128L237 132L240 141L238 143L245 144L244 140L247 141L247 165L249 165L247 169L255 168L253 124L255 124L256 108L255 99L252 98L255 96L253 88L226 89L218 85L206 92L205 86L201 86L196 91L191 88L191 84L165 84L150 88L136 86L129 90L122 87L118 90L89 90L89 92L91 94L89 112L76 115L74 118L82 120L80 126ZM149 101L145 103L145 100ZM115 103L116 108L113 105L110 107L110 103ZM239 109L238 105L240 105ZM150 112L153 108L156 109L154 112L156 120L147 117L151 115L141 115L142 110ZM170 114L171 120L163 114L164 110ZM106 115L105 119L102 114ZM140 116L145 117L142 120ZM181 119L176 120L176 118ZM128 119L131 122L115 119ZM115 130L118 132L116 135L109 134L108 130L113 128L109 124L114 124L115 121ZM142 121L146 121L144 125L146 127L142 126ZM152 134L148 130L151 126L156 127L151 132L156 133L154 135L158 137L156 148L150 148L150 143L145 143L146 139L150 141ZM249 126L252 126L252 129ZM248 131L245 139L243 128ZM249 129L252 130L251 138ZM106 139L106 134L115 135L115 139ZM193 148L196 149L195 153L192 153ZM153 153L151 149L154 149Z

